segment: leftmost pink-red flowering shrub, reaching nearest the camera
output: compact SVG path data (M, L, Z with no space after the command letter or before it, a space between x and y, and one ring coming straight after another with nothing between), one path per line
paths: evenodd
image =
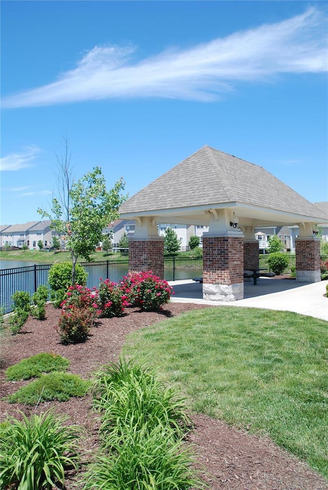
M85 286L70 286L61 302L57 332L62 343L85 342L98 315L97 292Z

